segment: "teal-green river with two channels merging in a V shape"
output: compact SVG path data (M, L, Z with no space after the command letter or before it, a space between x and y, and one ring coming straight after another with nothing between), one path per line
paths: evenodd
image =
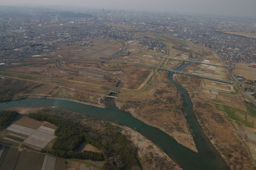
M182 70L186 68L190 63L183 64L176 68ZM180 145L175 139L164 133L163 131L146 125L142 121L133 117L130 113L119 110L114 100L108 100L110 107L104 109L94 106L88 106L76 102L70 102L66 100L54 100L54 99L34 99L27 98L24 100L12 101L8 103L0 103L0 110L8 109L11 107L48 107L57 106L61 109L65 109L72 112L85 114L87 116L96 117L105 121L111 121L119 125L124 125L135 129L141 135L148 138L150 141L161 147L164 152L172 160L177 162L184 170L226 170L229 169L224 160L222 160L220 154L211 145L210 141L203 133L202 129L198 125L196 117L192 111L192 102L188 92L179 86L172 78L173 73L168 74L169 80L178 88L183 98L183 112L190 127L193 129L198 153Z

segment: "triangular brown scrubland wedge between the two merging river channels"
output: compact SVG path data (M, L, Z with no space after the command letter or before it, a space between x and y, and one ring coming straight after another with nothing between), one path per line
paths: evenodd
M190 127L181 111L182 98L175 86L168 80L168 73L163 72L163 74L159 83L163 86L158 86L151 98L140 102L118 98L115 100L116 106L147 125L170 135L184 147L198 152Z

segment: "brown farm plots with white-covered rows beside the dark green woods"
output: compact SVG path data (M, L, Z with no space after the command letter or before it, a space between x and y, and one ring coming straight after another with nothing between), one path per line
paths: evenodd
M90 167L92 164L103 166L101 162L97 161L81 160L80 163L74 163L72 160L38 153L37 150L40 151L52 147L56 128L55 125L50 123L36 121L26 115L18 115L14 122L0 133L0 141L4 143L4 145L1 144L0 146L0 169L13 169L15 166L16 169L20 170L61 170L65 168ZM98 166L94 166L94 169L98 168Z

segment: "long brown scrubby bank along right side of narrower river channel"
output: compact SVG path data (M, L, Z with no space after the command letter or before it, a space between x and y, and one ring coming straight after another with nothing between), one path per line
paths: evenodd
M254 169L255 163L244 143L201 91L201 80L181 74L176 74L174 80L188 92L198 124L228 166L231 169Z

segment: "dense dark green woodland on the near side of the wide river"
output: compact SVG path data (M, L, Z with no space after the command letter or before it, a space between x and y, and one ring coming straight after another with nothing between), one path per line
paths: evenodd
M106 160L102 167L104 170L141 169L136 158L138 148L120 133L118 127L108 122L99 121L98 126L92 128L90 125L95 123L95 119L60 109L42 109L28 116L58 126L52 148L42 152L63 158ZM85 119L87 124L80 123ZM102 152L79 151L78 148L84 141Z

